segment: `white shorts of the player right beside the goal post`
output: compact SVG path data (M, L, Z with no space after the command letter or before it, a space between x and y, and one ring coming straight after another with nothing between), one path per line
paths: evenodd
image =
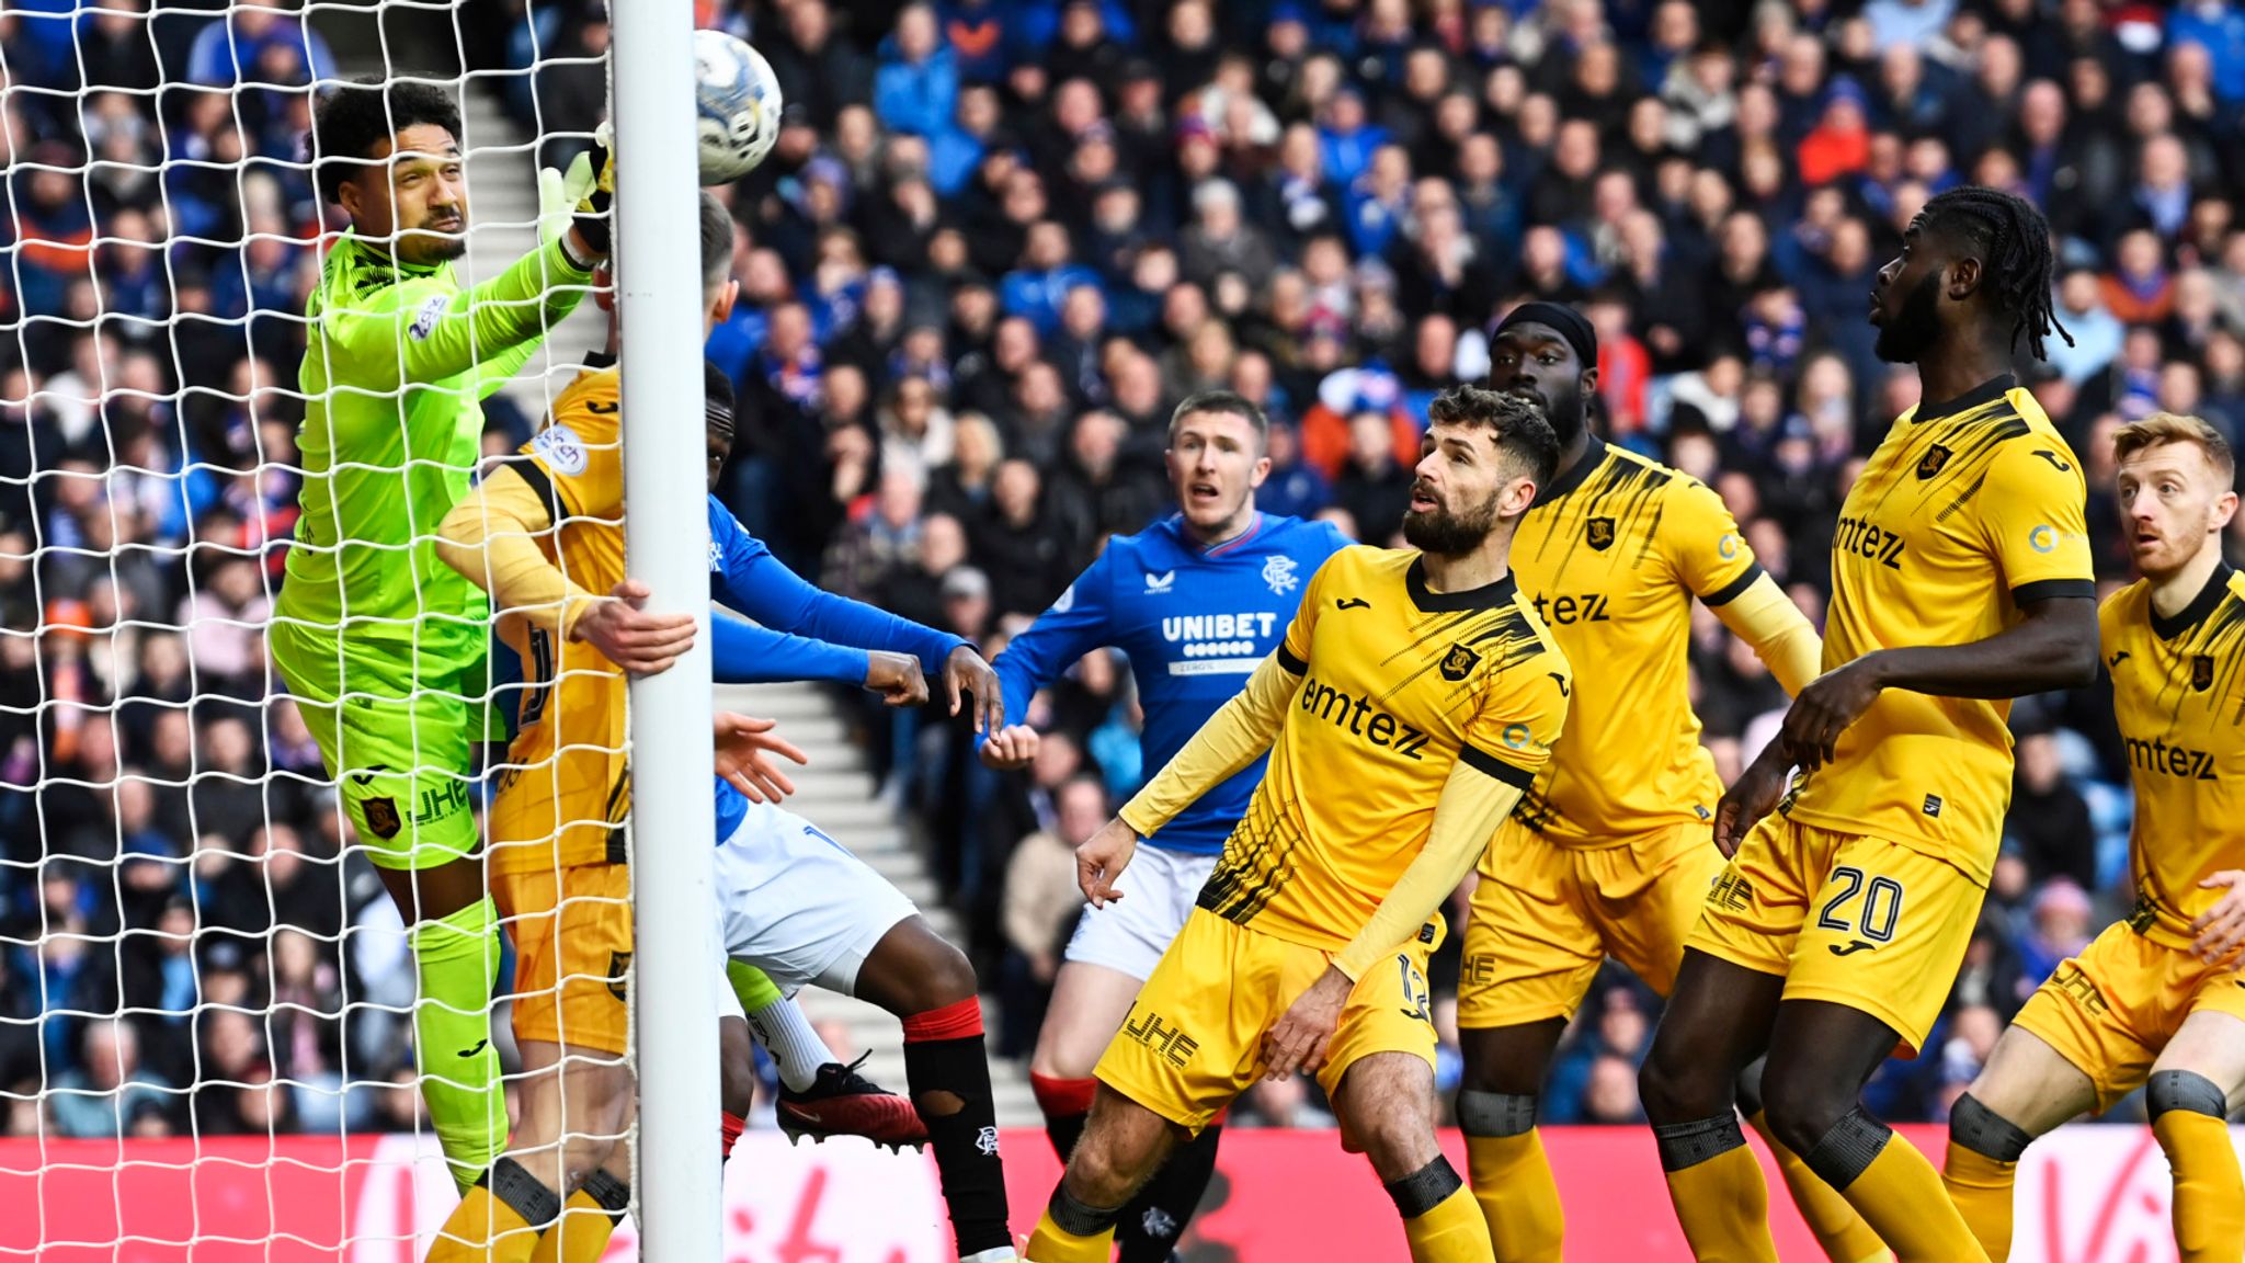
M716 899L725 955L768 973L784 996L810 982L855 993L864 957L918 915L817 825L757 802L716 847Z

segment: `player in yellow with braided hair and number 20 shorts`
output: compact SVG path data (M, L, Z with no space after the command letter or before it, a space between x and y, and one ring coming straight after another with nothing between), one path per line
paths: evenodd
M2041 355L2052 328L2043 216L1978 187L1931 198L1872 324L1924 402L1841 506L1825 672L1715 805L1731 863L1639 1074L1699 1259L1776 1261L1733 1112L1762 1052L1771 1133L1902 1263L1982 1259L1933 1164L1859 1097L1917 1052L1964 960L2012 793L2009 699L2097 674L2081 465L2009 375L2020 335Z

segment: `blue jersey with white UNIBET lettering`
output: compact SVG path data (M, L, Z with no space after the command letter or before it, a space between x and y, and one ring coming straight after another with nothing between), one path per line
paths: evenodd
M1206 551L1185 533L1183 515L1116 535L992 663L1006 690L1006 724L1019 724L1028 699L1078 658L1111 645L1129 656L1138 681L1145 771L1161 771L1286 638L1309 575L1347 546L1329 521L1271 515L1255 515L1246 535ZM1221 852L1262 782L1262 764L1203 793L1147 843Z

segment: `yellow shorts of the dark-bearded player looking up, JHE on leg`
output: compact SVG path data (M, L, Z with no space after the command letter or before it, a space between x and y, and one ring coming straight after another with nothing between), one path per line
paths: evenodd
M1408 1052L1435 1065L1426 957L1441 942L1428 921L1408 951L1356 980L1318 1083L1331 1097L1349 1065ZM1291 944L1194 908L1129 1018L1100 1056L1100 1083L1194 1135L1264 1072L1264 1034L1316 982L1334 953Z

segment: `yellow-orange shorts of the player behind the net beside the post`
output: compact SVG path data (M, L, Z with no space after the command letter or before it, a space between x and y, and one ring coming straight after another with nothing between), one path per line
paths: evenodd
M514 939L514 1038L624 1054L631 1038L631 870L494 872Z

